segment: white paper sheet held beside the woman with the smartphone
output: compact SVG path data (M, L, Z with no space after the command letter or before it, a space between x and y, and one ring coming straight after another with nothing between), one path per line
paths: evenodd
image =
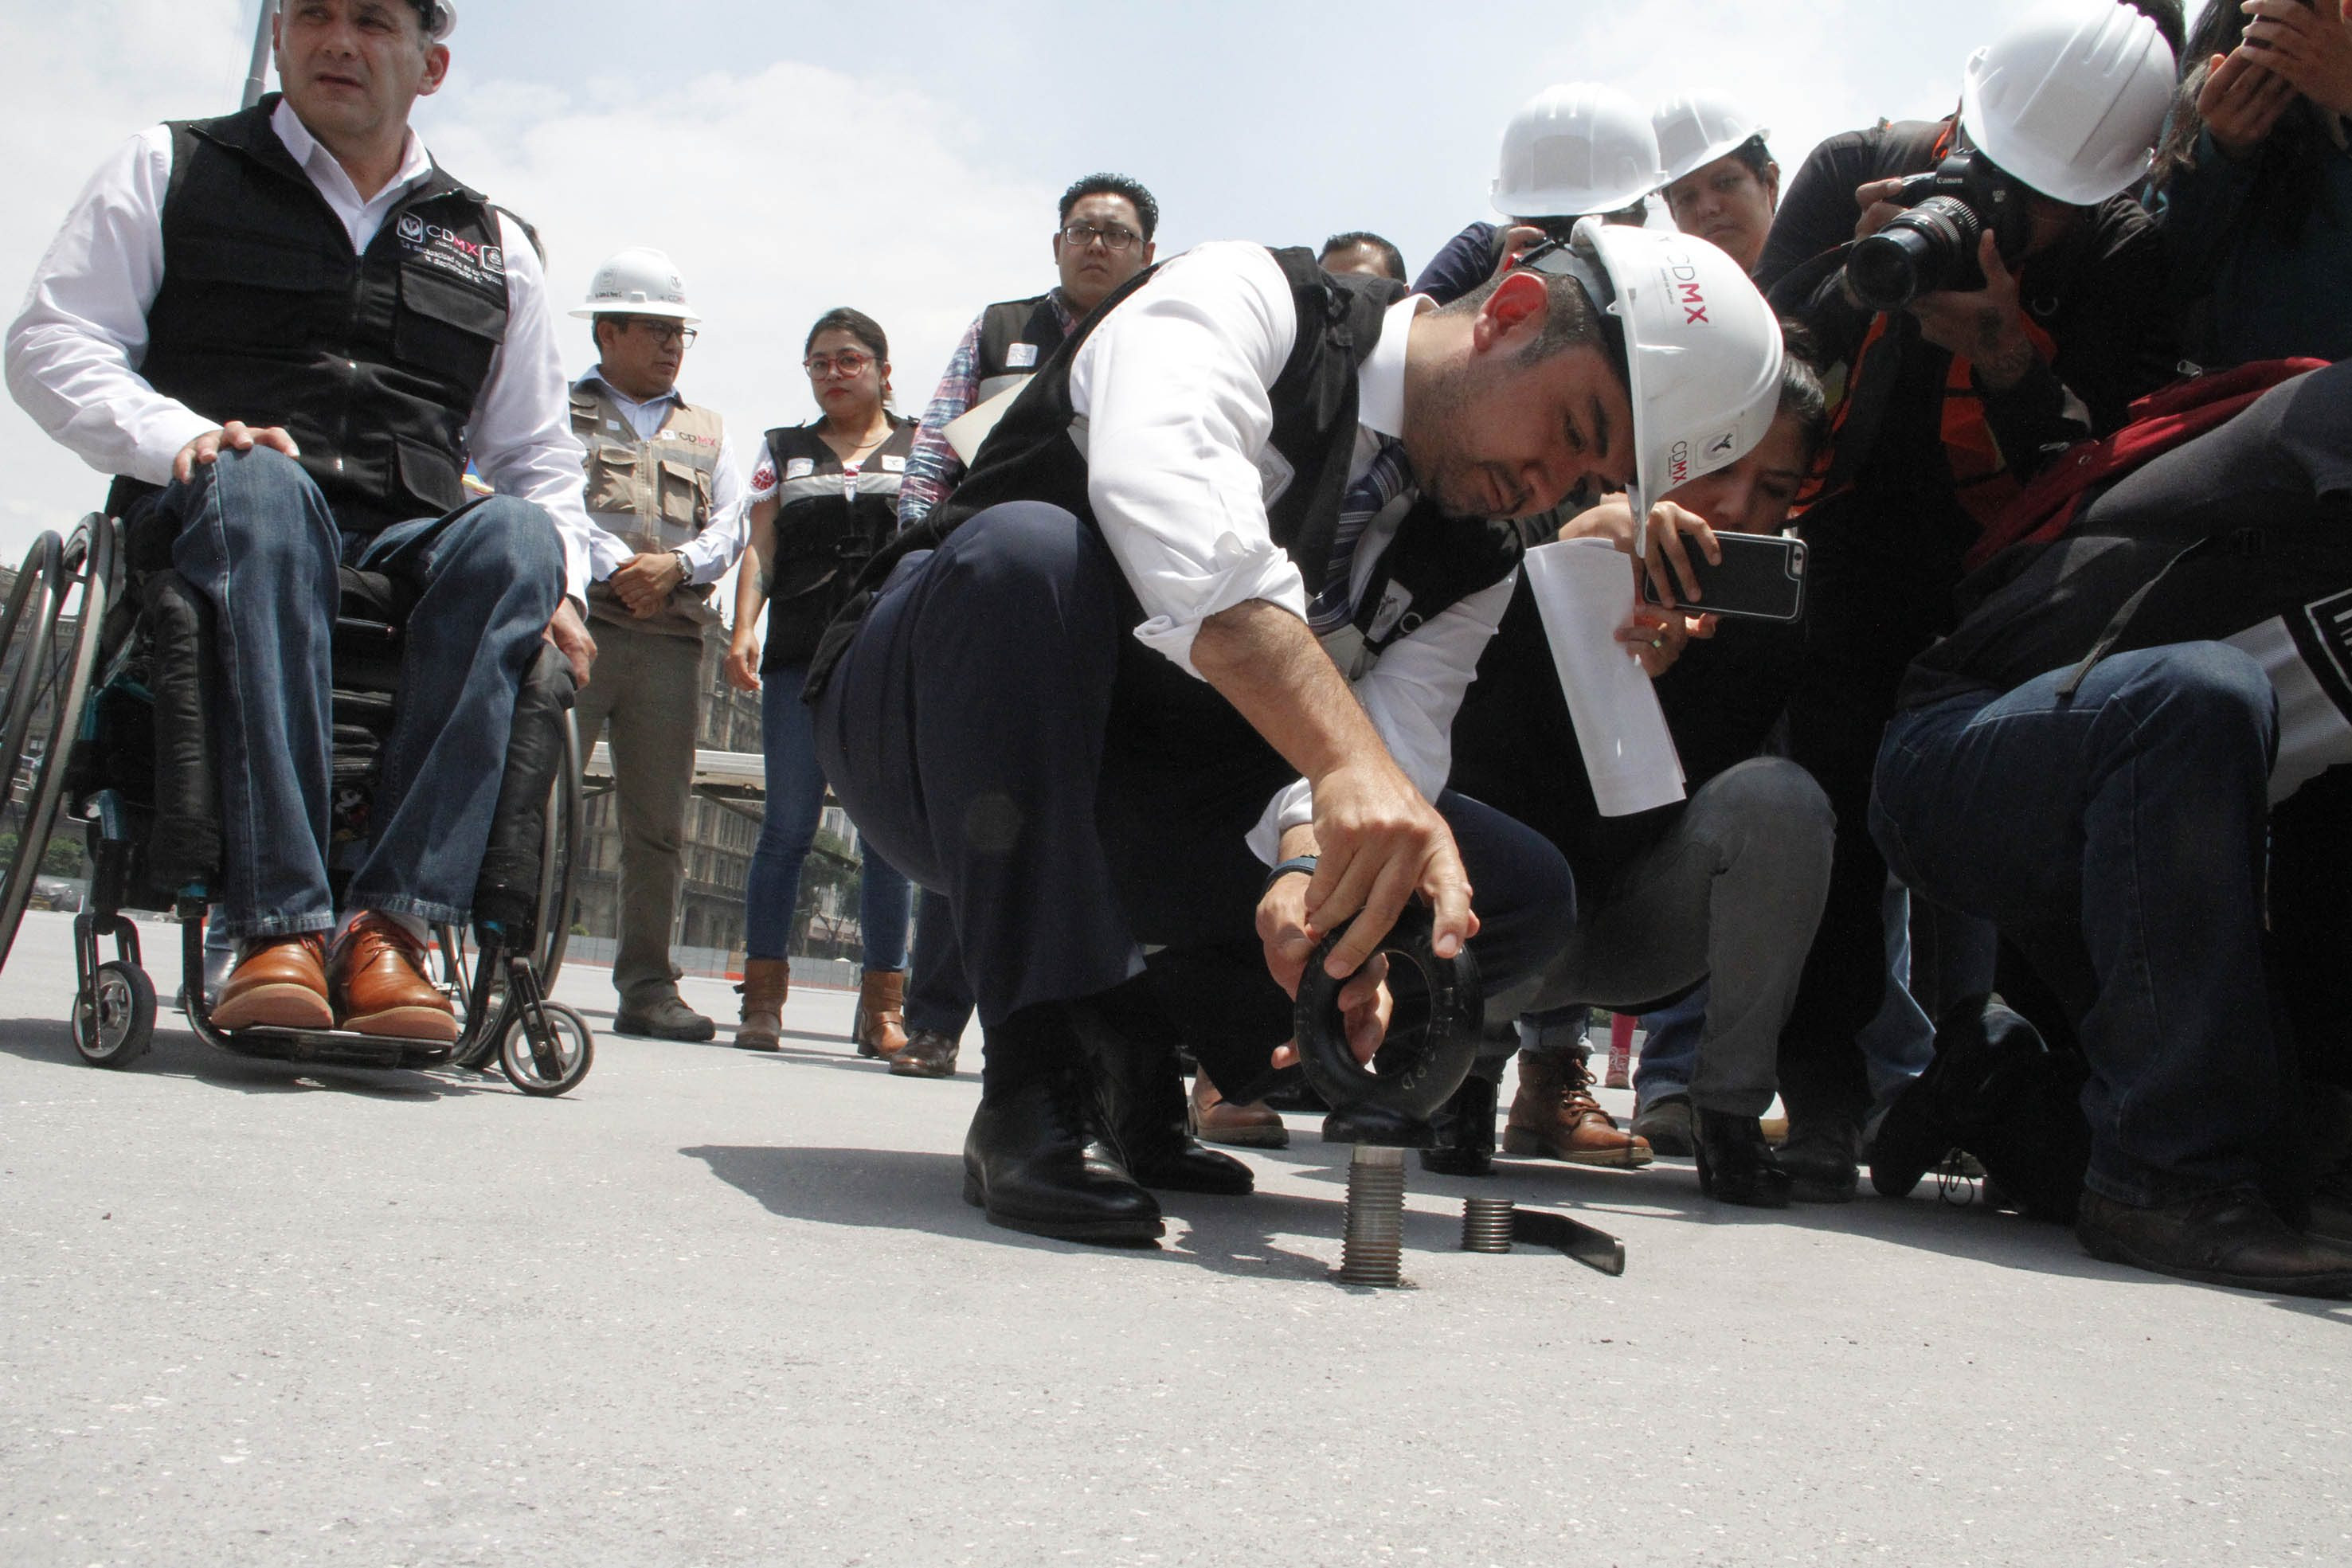
M1616 639L1632 609L1630 557L1602 538L1555 541L1526 552L1526 583L1602 816L1682 799L1682 757L1658 693Z

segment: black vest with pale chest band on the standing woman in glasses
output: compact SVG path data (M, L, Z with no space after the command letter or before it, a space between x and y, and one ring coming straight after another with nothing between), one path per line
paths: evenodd
M922 425L896 414L889 421L889 440L858 461L854 482L816 425L767 433L764 461L776 465L776 559L767 564L762 670L809 663L866 562L898 531L898 484Z

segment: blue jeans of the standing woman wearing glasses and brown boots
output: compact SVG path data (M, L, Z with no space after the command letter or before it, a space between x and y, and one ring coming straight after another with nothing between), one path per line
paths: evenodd
M743 879L743 952L755 959L781 959L793 940L793 912L800 907L800 867L816 842L816 820L826 809L826 769L816 762L816 733L809 705L800 701L804 668L760 675L760 743L767 750L767 806L760 813L760 844L750 851L750 875ZM915 891L889 860L858 839L858 931L866 938L866 969L906 969L906 922Z

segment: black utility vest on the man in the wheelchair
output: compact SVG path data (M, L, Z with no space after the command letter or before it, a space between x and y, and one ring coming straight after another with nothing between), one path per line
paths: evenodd
M499 214L435 167L355 256L275 108L270 94L172 125L139 374L205 418L282 425L355 534L454 510L466 421L506 339Z

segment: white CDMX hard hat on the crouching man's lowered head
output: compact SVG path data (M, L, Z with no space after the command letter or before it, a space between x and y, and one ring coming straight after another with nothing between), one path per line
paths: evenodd
M1663 228L1585 219L1566 270L1625 334L1635 517L1755 451L1780 409L1780 320L1740 263ZM1536 266L1543 266L1541 261Z

